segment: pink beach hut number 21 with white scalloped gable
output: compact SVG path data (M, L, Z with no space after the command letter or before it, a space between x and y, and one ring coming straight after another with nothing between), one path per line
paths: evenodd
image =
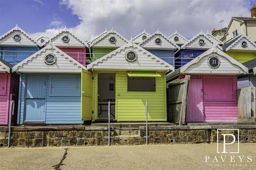
M247 73L247 67L214 46L166 79L190 75L187 122L237 122L237 75Z

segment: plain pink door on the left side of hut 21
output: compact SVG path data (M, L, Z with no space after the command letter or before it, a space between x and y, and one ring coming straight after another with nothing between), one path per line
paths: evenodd
M202 79L190 79L189 81L187 122L204 122Z

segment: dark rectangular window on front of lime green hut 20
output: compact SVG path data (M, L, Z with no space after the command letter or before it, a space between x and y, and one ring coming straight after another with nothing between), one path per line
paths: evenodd
M156 78L128 77L127 91L156 91Z

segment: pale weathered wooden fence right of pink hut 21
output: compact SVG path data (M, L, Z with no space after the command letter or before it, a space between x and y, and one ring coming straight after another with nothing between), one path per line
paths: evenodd
M255 122L256 120L256 87L246 87L237 91L238 122Z

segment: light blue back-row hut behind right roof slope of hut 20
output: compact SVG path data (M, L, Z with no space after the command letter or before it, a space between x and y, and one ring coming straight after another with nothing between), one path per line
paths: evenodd
M174 66L174 52L180 49L178 45L169 40L169 38L159 30L138 45L172 66Z

